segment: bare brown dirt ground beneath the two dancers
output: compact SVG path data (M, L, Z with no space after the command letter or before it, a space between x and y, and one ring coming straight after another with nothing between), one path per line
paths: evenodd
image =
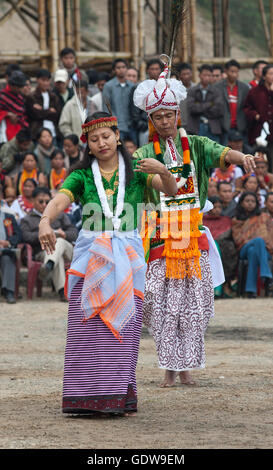
M195 387L160 389L162 371L143 330L139 412L95 419L61 412L67 304L0 303L2 449L272 448L273 299L216 302L207 367Z

